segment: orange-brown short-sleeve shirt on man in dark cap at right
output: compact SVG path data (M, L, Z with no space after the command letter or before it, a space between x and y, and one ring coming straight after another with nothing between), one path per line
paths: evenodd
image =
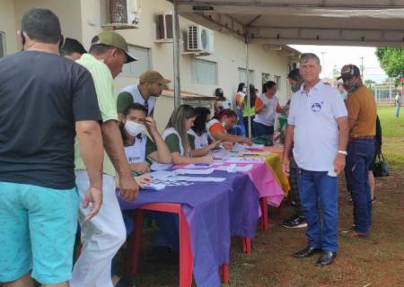
M354 122L351 137L376 135L377 108L373 93L362 86L347 97L348 117Z

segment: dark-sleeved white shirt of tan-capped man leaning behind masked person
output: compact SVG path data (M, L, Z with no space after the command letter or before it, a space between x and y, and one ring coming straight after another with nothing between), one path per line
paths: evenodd
M117 109L123 113L132 103L138 103L147 108L147 114L153 116L156 97L151 96L147 101L143 98L137 85L127 86L119 92Z

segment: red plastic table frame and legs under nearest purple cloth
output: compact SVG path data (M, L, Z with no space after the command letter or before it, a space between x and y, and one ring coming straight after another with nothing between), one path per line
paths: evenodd
M142 239L143 231L143 211L157 211L164 213L177 213L179 216L180 225L180 287L189 287L192 285L192 270L193 270L193 257L190 245L190 232L189 225L185 214L182 213L181 204L170 204L170 203L156 203L156 204L145 204L142 207L136 209L134 213L135 222L135 234L130 239L131 248L131 268L130 273L136 274L137 272L137 261L140 254L140 242ZM223 265L219 269L219 272L223 274L223 282L225 284L229 283L229 265Z

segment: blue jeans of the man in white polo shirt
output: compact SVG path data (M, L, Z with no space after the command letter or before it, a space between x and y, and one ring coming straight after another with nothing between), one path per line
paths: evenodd
M338 250L338 180L328 171L298 170L297 185L307 221L309 246Z

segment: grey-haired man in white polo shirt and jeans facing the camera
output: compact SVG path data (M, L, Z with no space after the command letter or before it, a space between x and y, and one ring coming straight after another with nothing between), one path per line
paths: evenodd
M289 153L299 167L297 184L307 221L308 246L294 257L322 252L317 266L330 265L338 250L338 174L347 155L347 108L337 89L320 80L320 59L302 54L303 85L292 96L282 168L289 172Z

